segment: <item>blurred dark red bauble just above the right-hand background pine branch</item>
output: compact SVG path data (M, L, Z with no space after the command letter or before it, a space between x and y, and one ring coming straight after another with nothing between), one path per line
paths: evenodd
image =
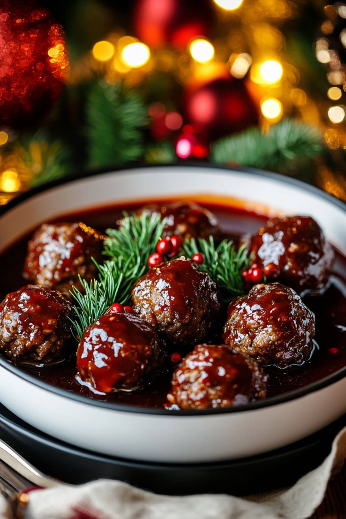
M258 108L241 79L220 77L188 87L185 94L186 120L198 124L217 138L258 125Z

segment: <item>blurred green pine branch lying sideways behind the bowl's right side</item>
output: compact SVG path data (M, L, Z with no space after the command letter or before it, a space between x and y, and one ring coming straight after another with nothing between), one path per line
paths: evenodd
M220 139L212 145L211 160L234 162L256 168L283 169L322 152L321 135L314 128L284 119L267 134L250 128L238 135Z

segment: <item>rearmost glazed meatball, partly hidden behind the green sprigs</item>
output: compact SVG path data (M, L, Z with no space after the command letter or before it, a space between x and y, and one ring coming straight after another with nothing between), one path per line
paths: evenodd
M218 238L219 222L211 211L193 202L174 202L152 204L139 210L139 214L149 211L151 214L161 214L167 218L163 237L177 235L183 240L188 238Z

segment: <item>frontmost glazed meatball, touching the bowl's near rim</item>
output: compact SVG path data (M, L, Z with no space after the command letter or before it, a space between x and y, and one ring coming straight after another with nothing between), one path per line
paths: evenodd
M176 368L167 399L181 409L229 407L265 398L266 383L250 357L224 344L199 344Z

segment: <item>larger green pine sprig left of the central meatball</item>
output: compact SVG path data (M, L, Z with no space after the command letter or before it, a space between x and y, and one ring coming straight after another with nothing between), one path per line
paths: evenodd
M130 301L133 285L148 270L148 258L155 251L164 226L160 215L144 211L141 215L124 213L119 229L107 229L104 254L110 259L103 265L93 260L99 280L88 283L79 278L83 291L73 286L71 292L75 303L72 331L77 340L110 305Z

